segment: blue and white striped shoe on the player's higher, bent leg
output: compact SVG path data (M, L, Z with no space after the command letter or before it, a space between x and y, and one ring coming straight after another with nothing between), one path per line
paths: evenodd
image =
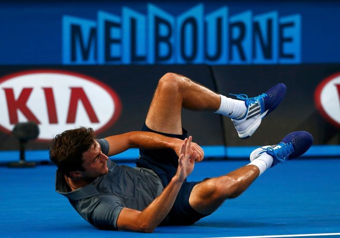
M268 116L280 104L286 95L286 85L279 83L257 97L248 98L246 94L230 95L236 96L246 104L247 110L245 115L242 118L231 119L238 136L246 139L254 134L260 126L262 119Z

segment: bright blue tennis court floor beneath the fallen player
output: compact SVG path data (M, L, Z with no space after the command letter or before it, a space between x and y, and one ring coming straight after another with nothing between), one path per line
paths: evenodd
M218 176L246 163L197 163L188 180ZM340 159L295 159L277 165L211 216L192 226L158 227L153 234L92 227L54 191L55 169L0 167L1 238L340 237Z

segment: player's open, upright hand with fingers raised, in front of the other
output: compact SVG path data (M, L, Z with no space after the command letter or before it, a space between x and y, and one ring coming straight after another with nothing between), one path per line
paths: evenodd
M182 146L179 150L179 159L178 159L178 167L177 172L174 176L177 181L182 182L184 179L192 172L195 159L197 158L197 153L195 150L192 150L192 137L185 138Z

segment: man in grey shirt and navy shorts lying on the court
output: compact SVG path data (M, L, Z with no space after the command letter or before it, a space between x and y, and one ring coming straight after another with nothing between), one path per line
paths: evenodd
M191 225L224 200L239 196L267 168L304 154L313 137L307 132L291 133L278 145L253 151L244 167L187 182L204 152L191 137L186 139L181 108L228 116L239 137L247 138L285 94L286 86L280 83L257 97L240 94L236 95L240 100L235 100L168 73L159 81L143 131L96 140L91 128L79 128L55 137L50 159L58 167L56 191L98 228L150 233L159 225ZM140 149L137 167L108 159L129 148Z

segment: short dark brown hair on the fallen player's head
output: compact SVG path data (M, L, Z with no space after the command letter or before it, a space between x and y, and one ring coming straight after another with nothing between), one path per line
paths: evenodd
M92 128L80 127L64 131L52 140L49 159L54 162L66 176L75 170L84 171L83 153L92 145L96 146Z

